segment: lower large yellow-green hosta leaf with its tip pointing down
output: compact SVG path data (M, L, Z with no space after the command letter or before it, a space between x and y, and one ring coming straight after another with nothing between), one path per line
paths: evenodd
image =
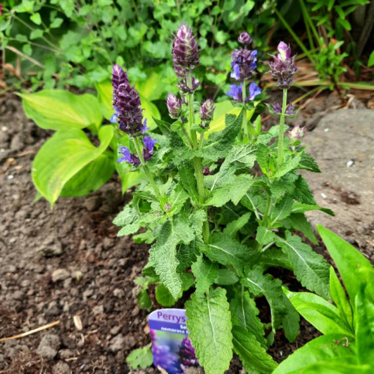
M97 148L86 134L77 128L56 132L42 145L32 164L31 177L35 187L53 205L67 182L102 155L112 137L113 127L103 126L99 132L101 144ZM91 165L89 168L96 170L98 165ZM76 182L81 181L80 177L77 178ZM102 182L106 176L101 178ZM94 179L90 180L97 187ZM72 184L68 185L68 188L69 186L71 188Z

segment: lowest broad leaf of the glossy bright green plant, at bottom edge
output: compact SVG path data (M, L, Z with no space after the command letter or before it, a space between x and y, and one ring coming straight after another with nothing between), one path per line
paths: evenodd
M352 343L348 341L346 335L333 334L321 336L296 350L274 370L273 374L308 373L307 371L303 371L303 368L307 368L314 363L336 358L342 360L343 358L351 357L354 360L354 353L351 346ZM325 374L324 371L319 373Z

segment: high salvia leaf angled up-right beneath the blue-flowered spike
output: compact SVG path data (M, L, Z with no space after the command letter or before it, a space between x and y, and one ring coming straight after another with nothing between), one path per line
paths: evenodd
M243 111L240 112L238 117L231 114L226 115L224 130L209 135L202 149L196 152L196 156L206 161L217 161L225 157L240 132L242 122Z

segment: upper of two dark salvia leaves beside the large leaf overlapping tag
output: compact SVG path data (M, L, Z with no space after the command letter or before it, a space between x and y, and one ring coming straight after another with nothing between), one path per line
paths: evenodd
M264 338L264 326L257 317L259 310L256 308L256 303L247 291L241 290L235 298L231 299L230 312L232 324L247 330L266 349L267 343Z

